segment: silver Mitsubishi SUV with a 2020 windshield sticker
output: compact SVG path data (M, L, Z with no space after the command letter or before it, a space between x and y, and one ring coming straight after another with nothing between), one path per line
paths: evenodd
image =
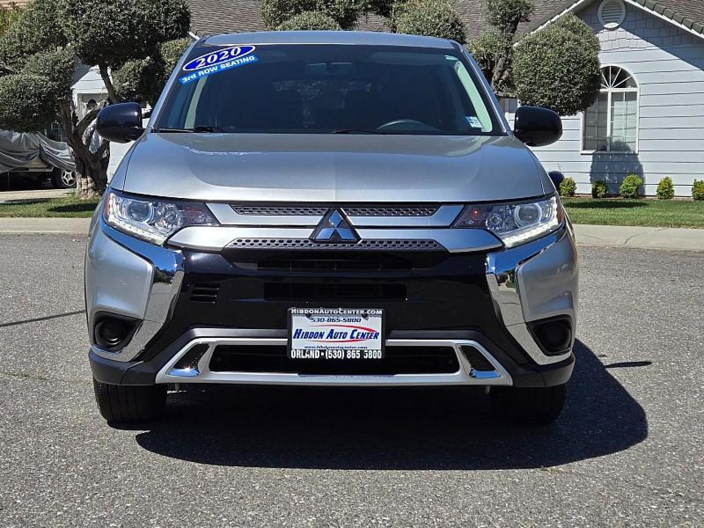
M92 221L85 288L109 422L153 420L178 384L488 388L555 420L572 374L574 234L467 51L372 32L195 42ZM331 389L332 390L332 389Z

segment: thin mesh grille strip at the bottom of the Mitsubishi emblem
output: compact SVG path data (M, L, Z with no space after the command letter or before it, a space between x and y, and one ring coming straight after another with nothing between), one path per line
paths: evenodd
M394 251L444 251L434 240L362 240L356 244L321 244L310 239L235 239L227 248L232 249L315 249L323 250L394 250Z

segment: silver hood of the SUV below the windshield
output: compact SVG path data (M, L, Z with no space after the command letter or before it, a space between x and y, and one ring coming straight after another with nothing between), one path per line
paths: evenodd
M545 179L510 136L151 132L132 149L123 190L201 201L464 202L540 196Z

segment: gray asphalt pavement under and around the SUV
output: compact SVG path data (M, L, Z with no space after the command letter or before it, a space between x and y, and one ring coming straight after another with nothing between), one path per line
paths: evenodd
M549 427L474 390L208 389L113 429L84 238L0 234L0 526L702 526L704 253L580 249L577 367Z

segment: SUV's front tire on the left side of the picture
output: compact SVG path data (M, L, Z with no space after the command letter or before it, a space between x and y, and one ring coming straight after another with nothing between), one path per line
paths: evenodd
M166 385L111 385L93 379L95 401L108 423L153 422L163 413Z

